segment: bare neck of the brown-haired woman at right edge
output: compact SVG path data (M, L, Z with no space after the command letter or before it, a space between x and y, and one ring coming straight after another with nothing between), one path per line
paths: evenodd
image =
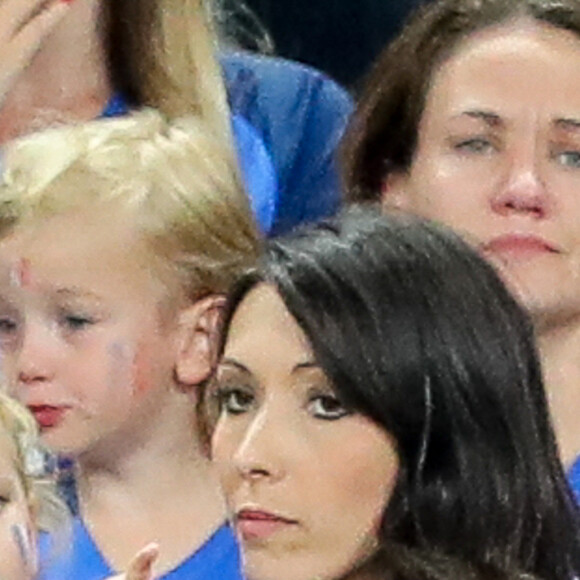
M538 333L544 383L565 466L580 454L580 324Z

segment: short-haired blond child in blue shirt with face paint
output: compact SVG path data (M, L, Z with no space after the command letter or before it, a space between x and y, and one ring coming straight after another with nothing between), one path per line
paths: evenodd
M3 372L76 464L79 517L43 578L104 578L155 541L163 578L238 578L196 439L221 294L258 238L200 120L102 121L15 142L0 187Z

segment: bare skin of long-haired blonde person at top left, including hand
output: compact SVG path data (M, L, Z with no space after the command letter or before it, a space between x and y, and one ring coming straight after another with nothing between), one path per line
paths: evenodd
M112 89L98 28L100 4L0 2L0 144L103 110Z

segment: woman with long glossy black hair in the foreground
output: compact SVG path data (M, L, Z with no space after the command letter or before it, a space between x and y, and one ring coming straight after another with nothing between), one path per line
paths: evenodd
M455 235L352 212L234 289L207 392L250 580L571 580L533 333Z

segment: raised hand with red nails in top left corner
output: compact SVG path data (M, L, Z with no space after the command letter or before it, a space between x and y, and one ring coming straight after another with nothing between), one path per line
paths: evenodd
M0 107L74 0L0 0Z

